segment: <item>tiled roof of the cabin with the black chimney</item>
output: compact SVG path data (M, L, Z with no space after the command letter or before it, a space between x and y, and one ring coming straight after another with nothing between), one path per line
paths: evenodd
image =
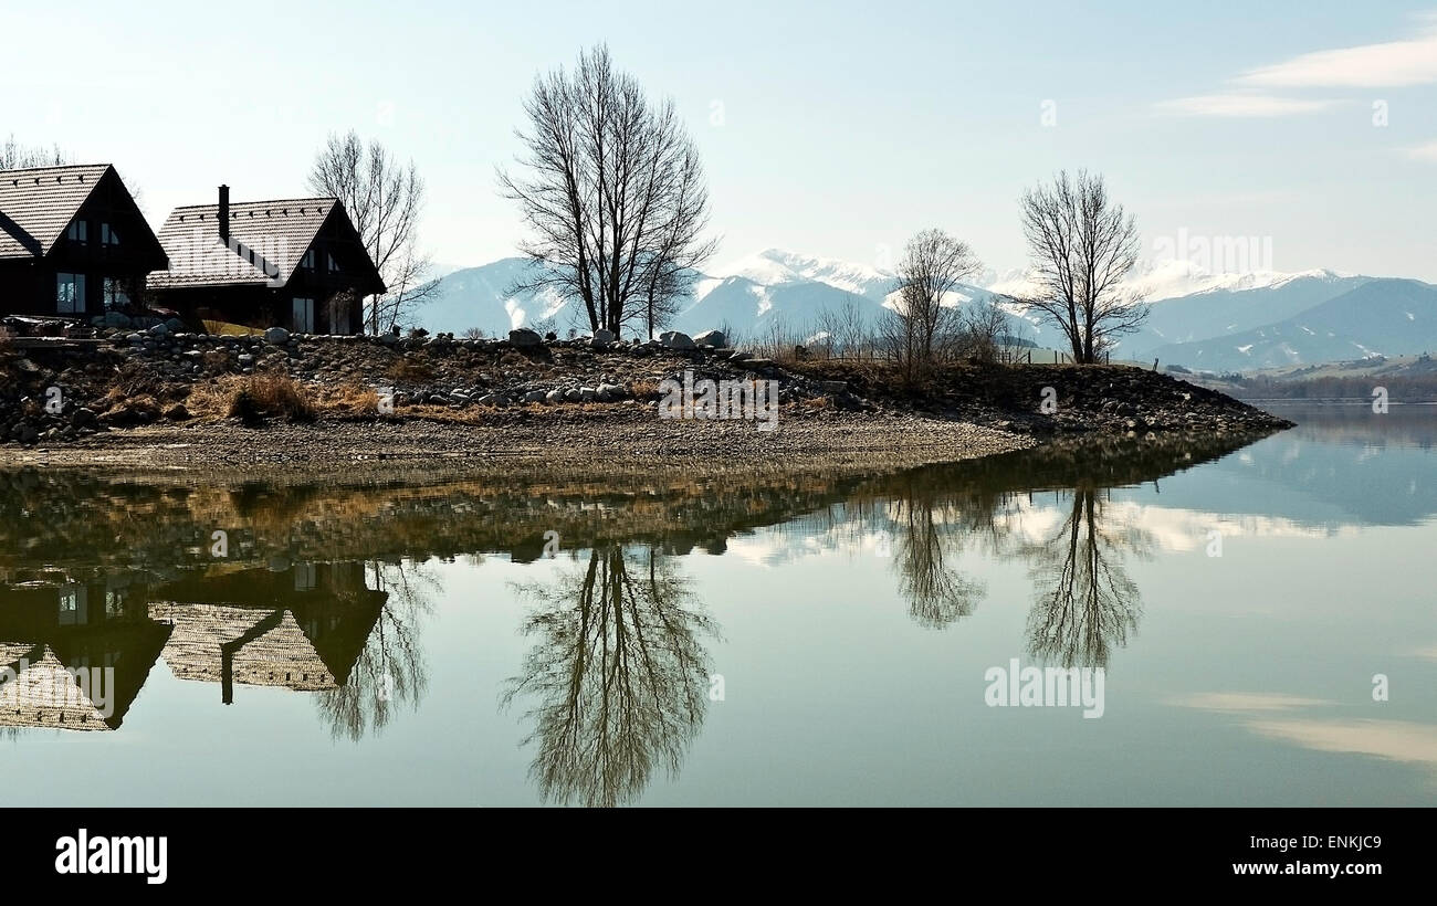
M160 230L170 270L149 274L149 286L285 286L338 204L335 198L231 202L230 244L220 238L217 204L175 208Z

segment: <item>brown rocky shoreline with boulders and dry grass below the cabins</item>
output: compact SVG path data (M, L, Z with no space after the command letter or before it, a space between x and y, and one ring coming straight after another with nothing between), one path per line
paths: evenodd
M1280 418L1119 366L954 365L923 382L874 362L777 363L721 335L210 336L154 324L0 345L0 464L733 458L961 459L1058 436L1266 434ZM249 382L280 380L267 411ZM753 416L661 418L683 382L773 382ZM665 383L674 382L674 383ZM241 405L244 403L244 405ZM700 412L701 415L701 412Z

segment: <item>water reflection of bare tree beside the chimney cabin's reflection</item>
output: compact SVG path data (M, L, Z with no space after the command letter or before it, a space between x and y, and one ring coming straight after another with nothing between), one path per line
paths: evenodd
M349 678L316 699L336 739L359 741L369 731L384 729L399 706L418 706L430 682L420 630L434 609L434 596L443 590L440 577L412 563L372 563L366 569L388 599Z

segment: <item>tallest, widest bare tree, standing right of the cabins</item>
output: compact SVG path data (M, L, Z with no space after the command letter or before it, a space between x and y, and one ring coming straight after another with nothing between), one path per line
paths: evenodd
M525 113L519 172L500 169L499 184L535 267L510 291L579 300L593 330L651 333L714 251L703 164L673 101L651 101L598 46L572 73L535 79Z

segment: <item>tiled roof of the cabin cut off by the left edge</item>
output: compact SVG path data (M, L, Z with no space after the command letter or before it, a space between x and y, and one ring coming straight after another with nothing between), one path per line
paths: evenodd
M0 258L50 254L109 164L0 171Z

